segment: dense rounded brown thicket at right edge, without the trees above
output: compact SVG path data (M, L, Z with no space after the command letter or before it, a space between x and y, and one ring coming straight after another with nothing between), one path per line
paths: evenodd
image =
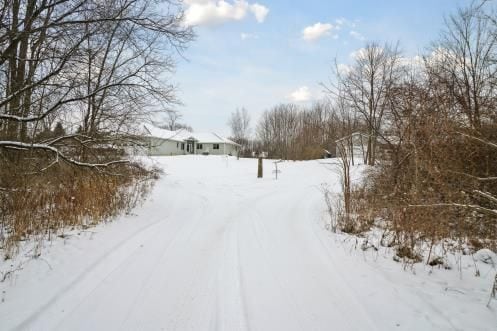
M361 213L384 220L395 233L395 245L404 252L445 239L457 242L460 248L495 250L497 217L472 206L496 208L475 194L497 194L497 181L476 179L497 174L496 150L464 139L448 121L437 130L427 123L418 126L415 137L408 137L393 161L366 176ZM437 125L435 120L432 123ZM497 127L493 128L495 131L489 131L497 132ZM484 139L492 141L494 137Z

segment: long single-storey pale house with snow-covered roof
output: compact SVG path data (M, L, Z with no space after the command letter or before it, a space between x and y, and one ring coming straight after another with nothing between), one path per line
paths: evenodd
M142 137L147 154L186 155L213 154L237 155L240 145L216 133L194 133L186 130L169 131L144 124Z

